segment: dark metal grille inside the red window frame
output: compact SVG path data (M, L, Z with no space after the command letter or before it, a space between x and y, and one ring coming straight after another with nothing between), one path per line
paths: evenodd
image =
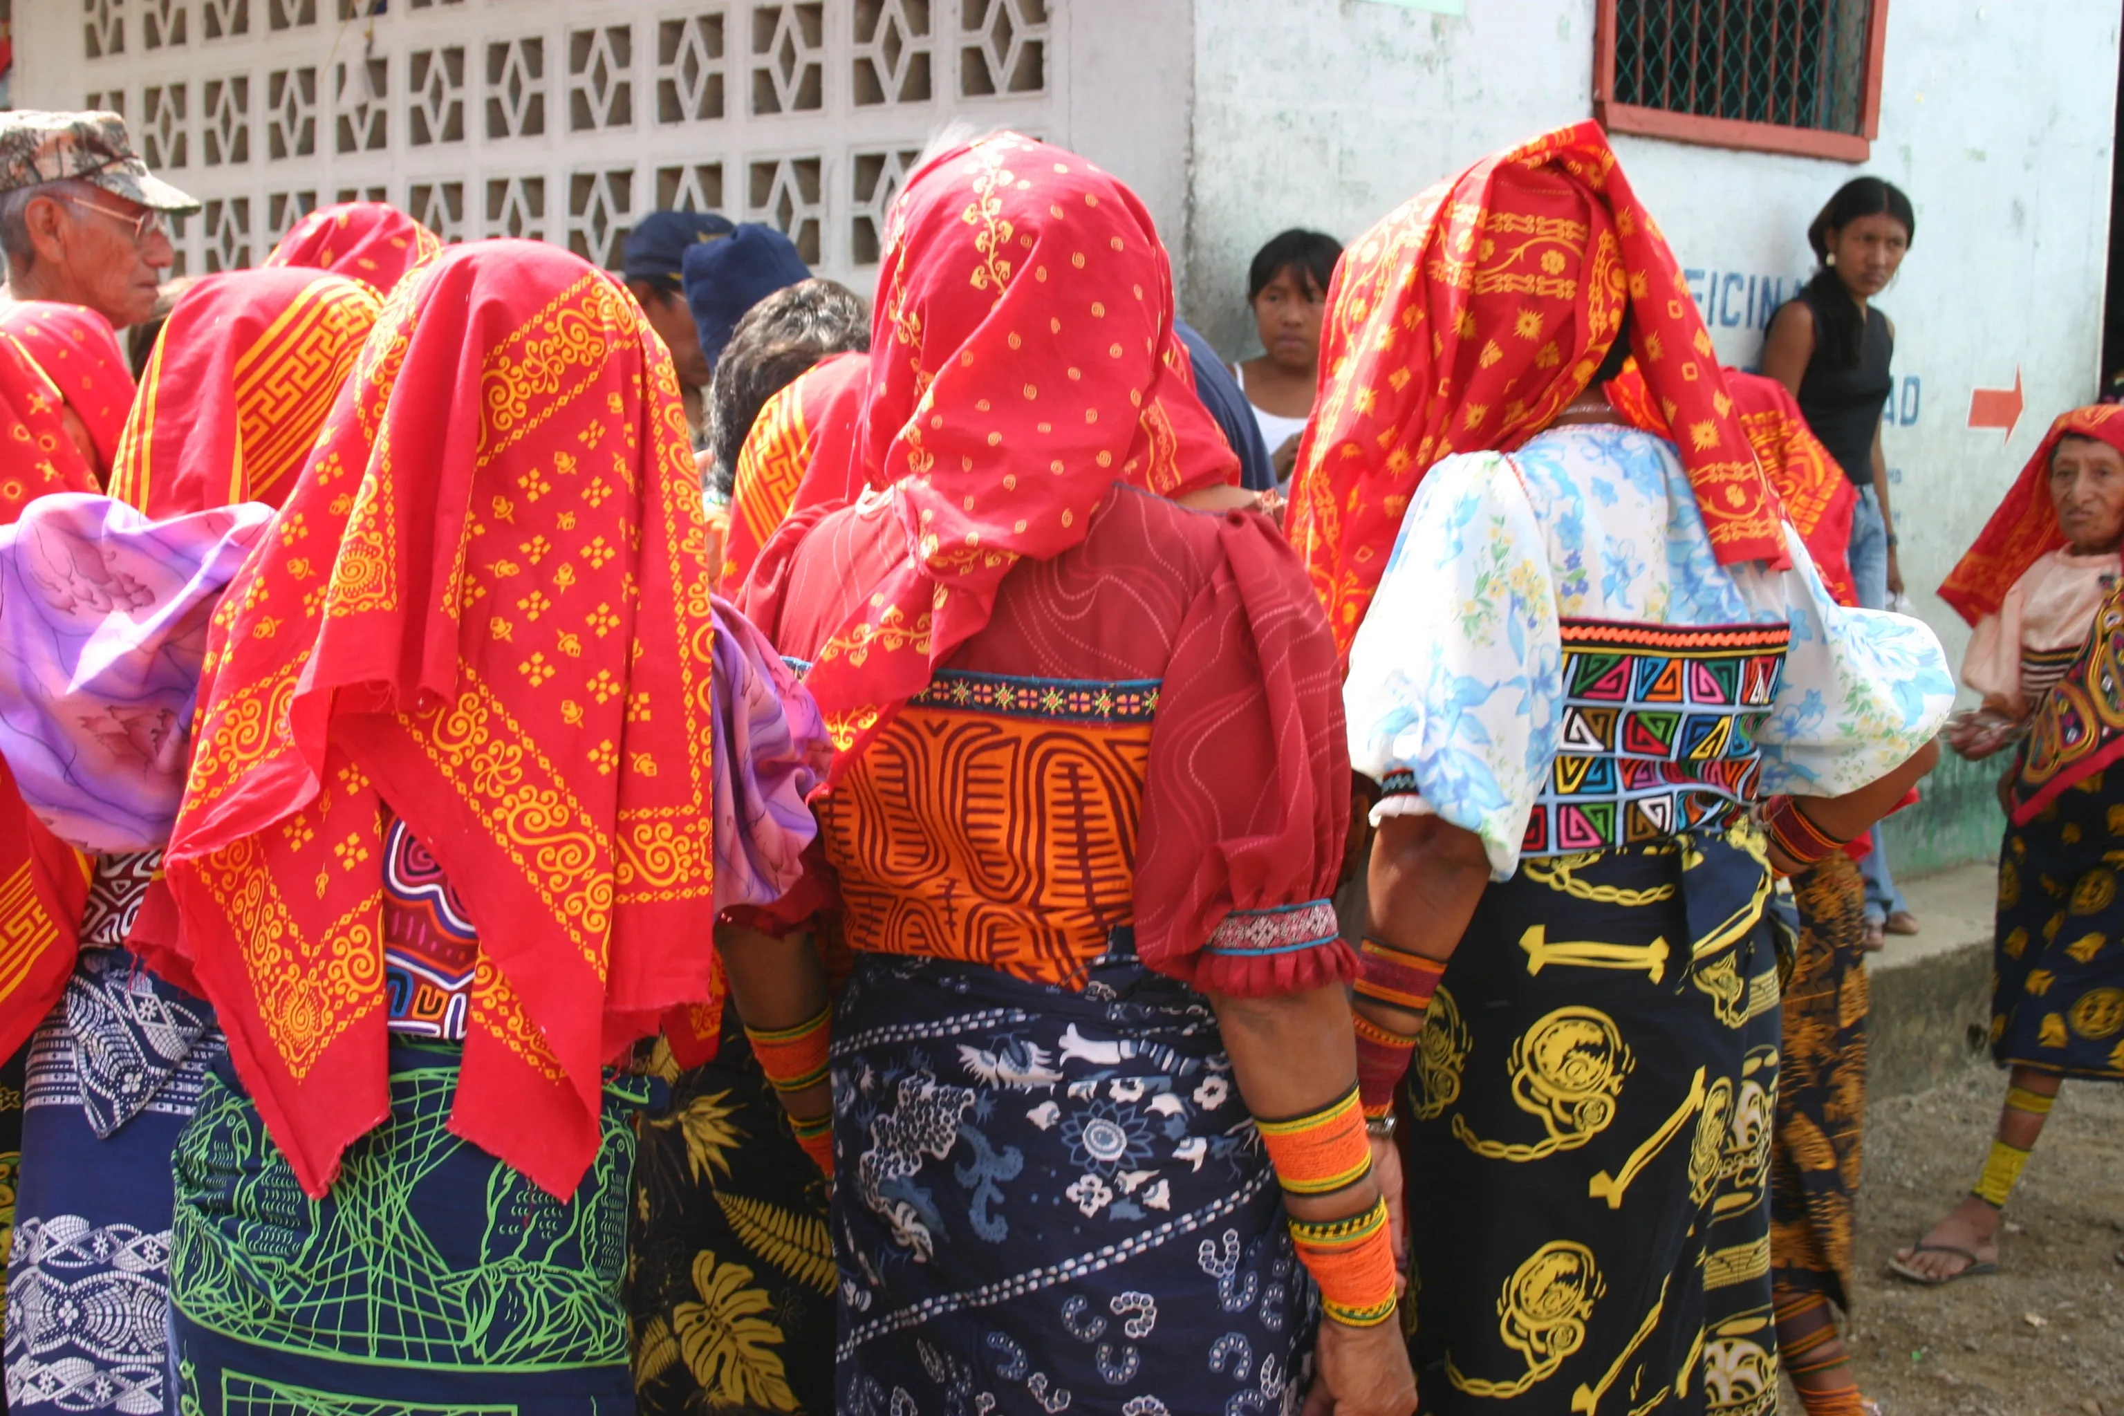
M1861 134L1880 0L1614 0L1614 100Z

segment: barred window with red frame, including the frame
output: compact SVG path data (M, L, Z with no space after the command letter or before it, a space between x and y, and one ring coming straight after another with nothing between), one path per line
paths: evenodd
M1608 132L1865 161L1888 0L1597 0Z

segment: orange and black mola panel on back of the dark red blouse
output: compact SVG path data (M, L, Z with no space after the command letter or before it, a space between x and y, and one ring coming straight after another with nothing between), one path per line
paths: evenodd
M1081 985L1134 921L1158 681L943 671L822 800L854 949Z

